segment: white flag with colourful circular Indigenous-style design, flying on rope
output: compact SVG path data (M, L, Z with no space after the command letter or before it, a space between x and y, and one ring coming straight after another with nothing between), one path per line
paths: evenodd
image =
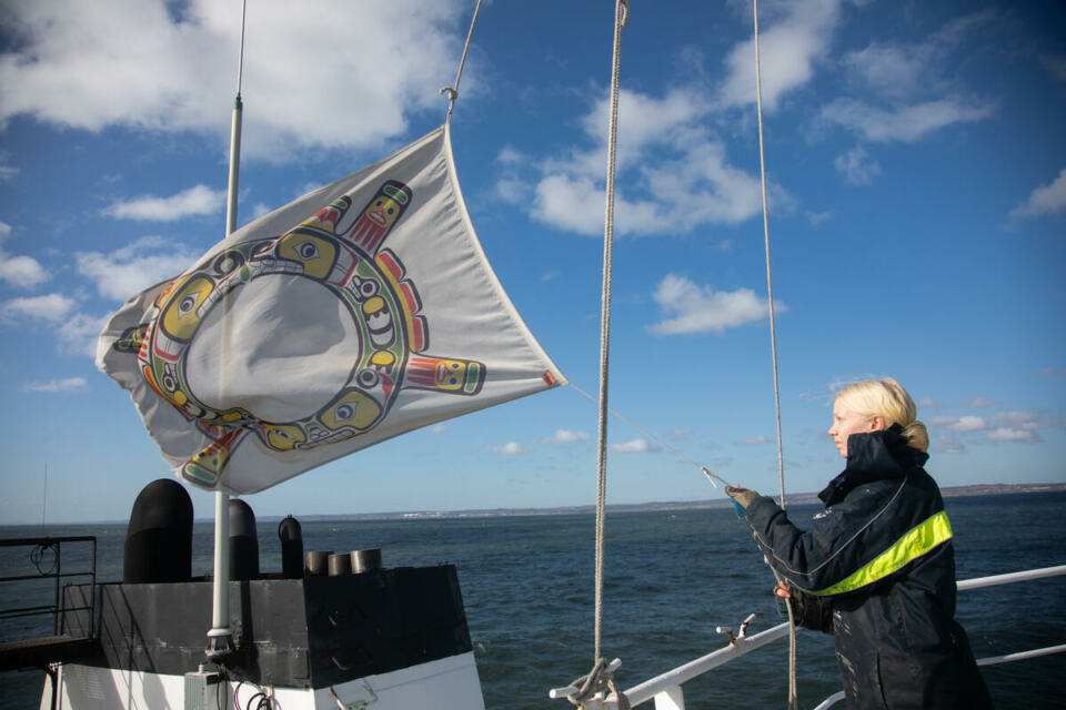
M181 479L232 494L565 384L485 258L446 126L131 298L97 366Z

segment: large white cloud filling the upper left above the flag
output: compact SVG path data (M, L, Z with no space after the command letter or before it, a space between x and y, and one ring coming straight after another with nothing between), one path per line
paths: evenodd
M229 114L218 109L233 100L240 3L6 8L20 41L0 55L0 122L31 115L90 131L194 131L225 142ZM242 93L257 120L245 126L243 153L285 161L308 146L380 146L414 112L443 115L438 90L454 78L460 10L459 0L396 0L389 12L346 0L321 0L312 11L284 0L253 3ZM467 62L464 90L476 83L476 62Z

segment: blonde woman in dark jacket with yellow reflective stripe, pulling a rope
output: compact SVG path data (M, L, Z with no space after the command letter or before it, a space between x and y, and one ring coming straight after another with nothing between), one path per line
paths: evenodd
M797 623L833 633L856 708L990 708L966 632L955 622L952 528L923 470L928 434L892 378L845 387L833 404L844 471L825 509L796 528L771 499L726 493L770 564L787 578Z

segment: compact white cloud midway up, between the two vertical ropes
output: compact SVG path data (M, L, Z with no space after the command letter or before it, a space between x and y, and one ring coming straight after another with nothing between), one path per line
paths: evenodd
M654 298L666 315L663 321L648 327L655 335L707 331L723 333L726 328L760 321L768 312L766 300L751 288L714 291L676 274L663 277ZM787 310L781 302L774 305L776 313Z

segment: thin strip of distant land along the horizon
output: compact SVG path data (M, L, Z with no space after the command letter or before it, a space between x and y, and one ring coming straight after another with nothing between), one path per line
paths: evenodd
M1062 484L992 484L986 486L954 486L941 488L945 498L962 498L966 496L1002 496L1023 493L1063 493L1066 483ZM771 494L772 495L772 494ZM774 496L776 499L777 496ZM785 496L786 505L818 504L817 494L797 493ZM607 513L641 513L652 510L702 510L711 508L728 508L733 505L728 499L715 500L680 500L653 501L637 504L614 504L607 506ZM406 510L398 513L352 513L340 515L299 515L301 520L411 520L425 518L497 518L509 516L533 515L583 515L595 513L595 506L569 506L560 508L485 508L472 510ZM279 516L263 516L263 520L281 519Z

